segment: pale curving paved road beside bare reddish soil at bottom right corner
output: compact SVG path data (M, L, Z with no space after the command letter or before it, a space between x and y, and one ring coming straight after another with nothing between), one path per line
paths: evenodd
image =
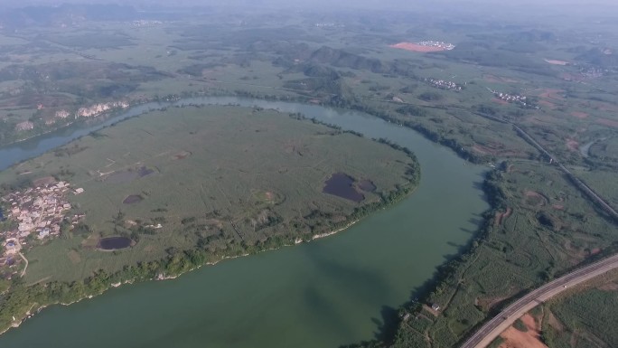
M552 296L556 296L562 291L565 291L568 287L576 286L592 277L602 275L613 268L618 268L618 255L595 262L584 268L579 268L566 276L559 277L542 287L538 287L528 295L521 297L517 302L506 307L501 311L500 315L492 318L487 324L482 325L470 339L463 343L461 348L485 348L492 343L498 335L513 324L515 320L539 303L547 301Z

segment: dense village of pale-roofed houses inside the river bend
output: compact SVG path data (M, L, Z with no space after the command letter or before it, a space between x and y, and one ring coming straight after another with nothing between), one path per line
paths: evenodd
M56 182L50 178L36 187L2 197L2 202L8 206L6 217L17 222L17 227L13 230L0 230L0 240L5 240L5 255L0 258L0 266L4 266L11 260L12 255L27 245L31 235L40 240L59 236L62 221L69 219L73 225L78 223L84 215L69 216L71 205L66 197L68 193L83 192L82 188L71 190L69 183Z

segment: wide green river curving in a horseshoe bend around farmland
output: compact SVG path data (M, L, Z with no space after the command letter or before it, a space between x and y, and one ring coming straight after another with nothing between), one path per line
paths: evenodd
M197 98L173 104L204 103L301 112L368 137L388 138L415 152L421 183L403 202L329 238L46 308L0 336L0 347L313 348L369 340L389 308L415 297L435 268L473 237L488 208L481 191L484 168L466 165L405 127L358 112L295 103ZM132 108L104 125L157 107ZM0 149L0 168L97 127L69 127Z

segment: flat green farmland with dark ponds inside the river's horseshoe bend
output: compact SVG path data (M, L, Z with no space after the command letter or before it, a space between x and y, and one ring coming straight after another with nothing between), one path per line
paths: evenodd
M239 107L170 108L126 120L0 174L0 182L67 180L88 230L66 231L28 252L26 281L77 280L98 269L163 259L171 249L311 240L357 207L407 183L414 162L360 136ZM23 174L28 173L28 174ZM369 181L361 202L323 193L332 174ZM126 235L130 250L101 252Z

